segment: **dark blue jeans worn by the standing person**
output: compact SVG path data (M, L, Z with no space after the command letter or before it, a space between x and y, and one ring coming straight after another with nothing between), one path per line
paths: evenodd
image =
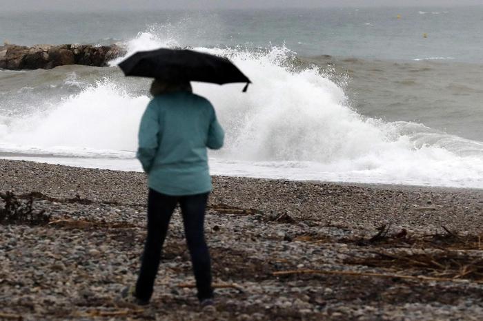
M144 246L141 271L136 283L136 296L149 300L155 283L161 249L168 232L168 225L179 203L183 215L184 233L193 263L198 299L213 298L211 288L210 253L204 238L204 216L208 194L168 196L149 189L148 237Z

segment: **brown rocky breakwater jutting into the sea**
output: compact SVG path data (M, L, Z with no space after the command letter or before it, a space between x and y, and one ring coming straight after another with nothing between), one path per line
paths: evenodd
M22 45L0 46L0 69L52 69L59 65L103 67L126 54L118 45Z

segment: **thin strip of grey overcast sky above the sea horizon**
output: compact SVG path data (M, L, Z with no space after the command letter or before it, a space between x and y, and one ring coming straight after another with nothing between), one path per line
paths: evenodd
M483 0L0 0L10 10L136 10L223 8L318 8L342 6L475 6Z

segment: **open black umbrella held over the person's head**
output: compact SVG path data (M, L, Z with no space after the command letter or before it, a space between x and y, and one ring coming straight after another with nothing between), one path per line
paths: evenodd
M161 81L206 83L251 83L237 66L224 57L193 50L161 48L136 52L119 63L126 76L141 76Z

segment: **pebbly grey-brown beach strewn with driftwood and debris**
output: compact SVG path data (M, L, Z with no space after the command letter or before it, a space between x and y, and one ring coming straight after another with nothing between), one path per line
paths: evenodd
M483 189L213 177L217 312L197 308L179 215L151 304L117 299L146 236L146 176L0 160L0 320L480 320ZM0 198L0 209L6 202Z

